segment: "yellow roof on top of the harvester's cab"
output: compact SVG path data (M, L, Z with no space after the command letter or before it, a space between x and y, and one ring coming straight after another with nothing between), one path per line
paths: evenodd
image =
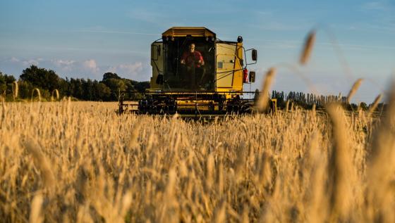
M214 37L215 33L206 27L171 27L162 37Z

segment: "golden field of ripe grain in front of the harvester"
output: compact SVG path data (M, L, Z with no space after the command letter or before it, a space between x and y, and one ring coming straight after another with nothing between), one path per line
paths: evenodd
M390 105L384 120L329 106L202 123L3 103L0 219L395 222Z

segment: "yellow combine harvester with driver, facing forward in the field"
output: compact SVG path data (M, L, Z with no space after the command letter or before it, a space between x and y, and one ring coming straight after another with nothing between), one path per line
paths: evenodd
M251 53L250 63L246 53ZM240 36L229 42L205 27L172 27L151 44L150 89L143 94L122 91L119 113L183 117L250 113L259 92L243 91L243 84L255 82L255 72L248 72L247 66L256 62L257 51L244 49Z

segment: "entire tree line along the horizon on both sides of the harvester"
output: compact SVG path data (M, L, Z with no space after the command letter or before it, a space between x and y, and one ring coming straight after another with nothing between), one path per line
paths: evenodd
M16 84L17 82L17 84ZM16 86L18 85L18 86ZM137 82L132 79L121 78L113 72L106 72L102 80L92 80L83 78L63 79L54 72L45 68L37 68L31 65L23 70L18 81L12 75L0 72L0 96L7 101L18 99L30 99L34 89L39 89L42 98L49 101L57 90L60 97L71 96L83 101L118 101L119 91L139 91L144 92L150 87L150 82ZM15 96L18 88L18 96ZM302 108L323 108L326 103L337 101L344 103L345 107L352 110L355 108L367 109L366 103L358 105L346 103L345 96L305 94L303 92L291 91L288 94L284 91L272 91L272 98L277 98L277 106L285 108L286 101L291 101ZM384 105L382 105L384 106ZM379 106L380 107L380 106Z

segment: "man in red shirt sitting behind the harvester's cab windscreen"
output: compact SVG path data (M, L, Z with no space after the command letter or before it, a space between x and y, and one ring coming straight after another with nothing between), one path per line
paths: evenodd
M181 56L181 65L186 65L184 69L184 78L188 80L192 88L197 87L196 79L197 76L204 76L205 70L202 68L205 65L202 53L195 51L195 44L189 45L189 51L183 53Z

